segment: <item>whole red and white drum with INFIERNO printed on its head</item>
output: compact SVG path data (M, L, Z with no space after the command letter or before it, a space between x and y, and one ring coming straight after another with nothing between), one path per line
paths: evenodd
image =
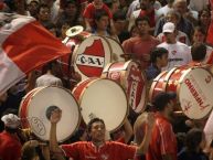
M170 70L161 78L153 81L150 99L159 92L155 86L158 81L162 82L162 90L177 93L181 109L189 118L201 119L211 111L213 76L206 68L185 65Z

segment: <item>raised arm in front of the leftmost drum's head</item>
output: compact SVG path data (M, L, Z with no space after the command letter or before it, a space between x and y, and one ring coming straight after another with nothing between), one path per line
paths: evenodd
M64 153L62 149L58 147L57 138L56 138L56 125L62 117L61 109L54 109L51 113L50 121L51 121L51 129L50 129L50 150L54 154L57 160L65 160Z

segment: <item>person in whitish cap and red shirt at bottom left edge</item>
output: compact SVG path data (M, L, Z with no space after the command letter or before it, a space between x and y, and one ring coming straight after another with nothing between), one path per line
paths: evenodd
M17 136L20 119L13 114L4 115L1 120L4 130L0 134L0 159L19 160L21 158L21 142Z

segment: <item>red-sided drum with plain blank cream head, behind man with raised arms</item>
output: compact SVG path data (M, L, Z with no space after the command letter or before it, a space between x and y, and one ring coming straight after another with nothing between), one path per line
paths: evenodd
M73 89L73 95L78 100L85 124L98 117L104 119L106 129L114 132L128 115L126 94L111 79L85 79Z

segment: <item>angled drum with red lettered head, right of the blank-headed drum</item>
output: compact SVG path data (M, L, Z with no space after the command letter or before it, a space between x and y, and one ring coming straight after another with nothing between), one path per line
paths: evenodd
M143 111L147 102L147 78L136 62L110 63L105 67L102 77L120 84L127 94L129 107L135 113Z

